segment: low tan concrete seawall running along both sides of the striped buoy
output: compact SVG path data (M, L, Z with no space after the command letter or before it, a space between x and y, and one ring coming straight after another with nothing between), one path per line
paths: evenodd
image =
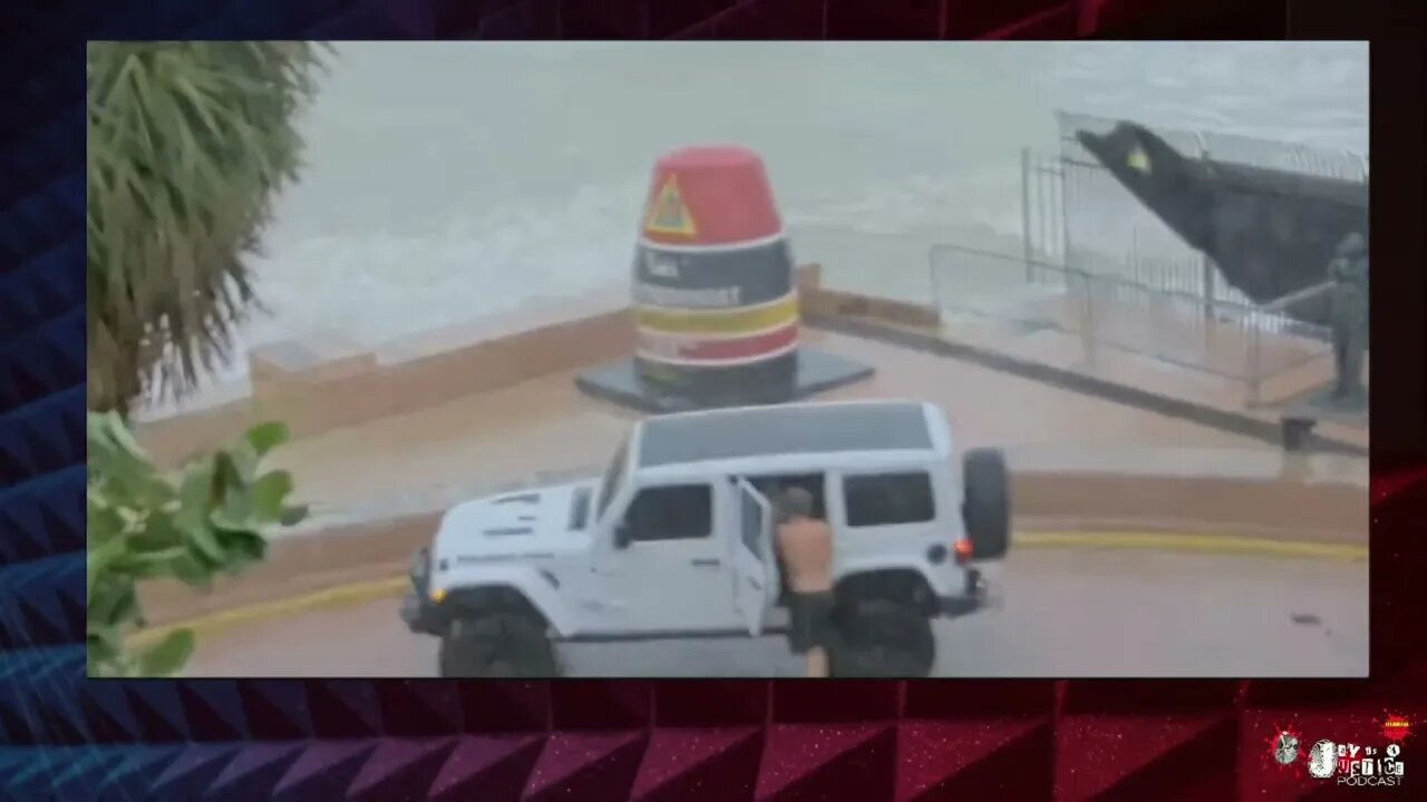
M933 307L823 287L822 267L816 264L798 268L798 288L805 338L819 331L850 334L943 361L977 362L1207 428L1269 442L1277 438L1273 410L1234 408L1199 375L1172 380L1163 367L1139 362L1122 364L1124 370L1117 375L1100 375L1104 370L1066 362L1059 351L1023 354L1017 348L1025 344L1017 338L987 344L948 328ZM342 333L318 331L253 350L248 381L208 388L180 410L150 411L141 415L137 434L160 464L173 465L255 422L281 420L297 440L318 437L621 360L634 345L626 293L614 288L378 347L352 342ZM1331 422L1320 430L1326 435L1319 438L1320 447L1366 454L1366 431Z

